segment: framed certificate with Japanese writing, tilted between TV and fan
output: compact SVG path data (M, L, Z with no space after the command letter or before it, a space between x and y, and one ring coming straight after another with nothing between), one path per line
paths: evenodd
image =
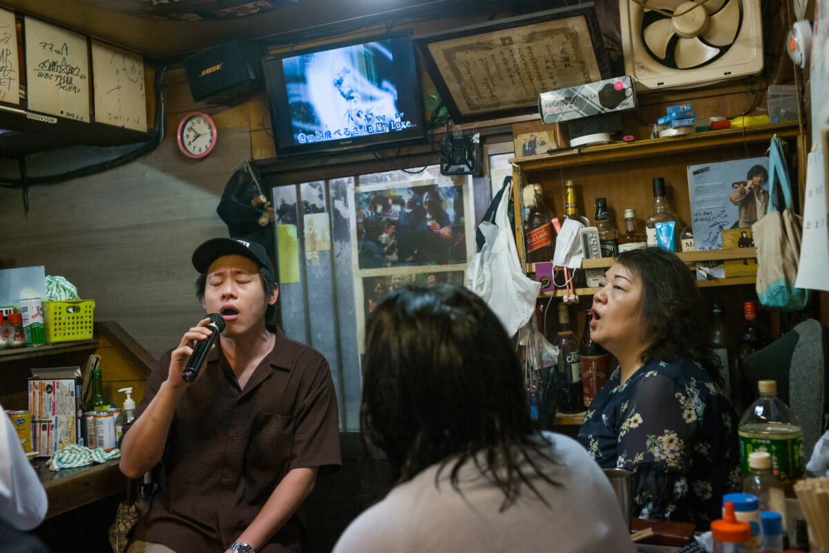
M592 2L414 37L455 123L526 114L548 90L608 79Z

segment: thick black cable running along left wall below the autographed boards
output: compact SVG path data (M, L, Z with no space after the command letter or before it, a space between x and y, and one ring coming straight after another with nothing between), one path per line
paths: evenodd
M163 85L164 85L164 74L167 71L167 65L164 65L160 69L156 70L156 82L155 82L155 93L156 98L158 98L158 103L156 105L156 124L153 127L153 136L149 138L146 142L140 143L138 148L135 148L133 151L124 153L117 158L109 159L105 162L95 163L93 165L89 165L86 167L80 167L78 169L74 169L70 172L65 172L60 175L49 175L46 177L27 177L26 172L26 158L21 158L20 161L20 172L21 178L19 180L6 180L5 182L0 182L0 187L3 188L22 188L23 189L23 203L28 211L28 188L36 185L47 185L47 184L57 184L59 182L65 182L71 180L73 178L78 177L88 177L90 175L94 175L95 173L103 172L108 169L112 169L113 167L119 167L120 165L124 165L124 163L129 163L133 161L133 159L140 158L148 153L153 152L158 145L162 143L164 139L164 133L167 129L167 118L164 114L164 92L163 92Z

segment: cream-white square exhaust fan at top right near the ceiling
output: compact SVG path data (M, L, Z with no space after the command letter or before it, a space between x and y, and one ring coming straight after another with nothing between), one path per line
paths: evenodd
M619 0L637 91L710 85L763 70L760 0Z

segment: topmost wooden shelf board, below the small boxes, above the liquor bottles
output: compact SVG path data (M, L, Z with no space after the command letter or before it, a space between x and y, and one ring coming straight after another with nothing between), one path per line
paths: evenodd
M740 143L768 142L774 134L794 138L800 132L797 121L708 131L670 138L652 138L634 142L608 143L584 148L569 148L529 158L512 158L524 172L549 171L575 164L596 164L652 158L663 154L712 150Z

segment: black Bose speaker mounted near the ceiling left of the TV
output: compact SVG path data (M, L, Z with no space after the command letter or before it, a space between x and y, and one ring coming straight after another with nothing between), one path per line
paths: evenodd
M256 43L230 41L193 54L184 61L196 102L232 105L262 86L264 50Z

